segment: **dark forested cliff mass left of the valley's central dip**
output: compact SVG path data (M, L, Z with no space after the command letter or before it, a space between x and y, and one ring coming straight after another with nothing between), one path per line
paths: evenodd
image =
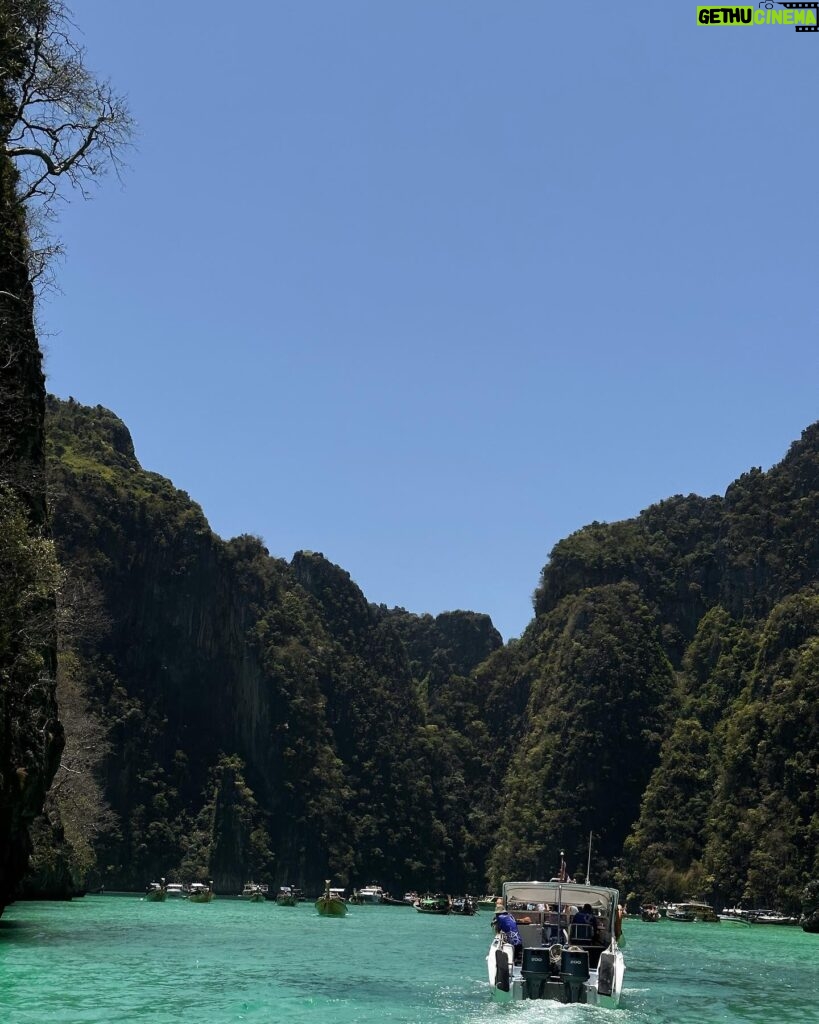
M246 840L225 827L217 842L207 823L226 757L243 765L279 884L478 888L480 694L440 675L422 698L401 637L420 636L413 616L369 604L319 554L287 563L257 539L220 541L186 495L141 470L106 410L49 399L49 451L60 558L104 609L76 649L109 726L106 885L207 864L229 889L258 871ZM501 642L486 616L435 622L430 665L468 671Z

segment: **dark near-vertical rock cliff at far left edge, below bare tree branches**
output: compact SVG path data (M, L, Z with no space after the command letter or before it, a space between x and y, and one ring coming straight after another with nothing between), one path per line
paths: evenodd
M45 388L14 170L0 159L0 912L56 770L55 565L45 503Z

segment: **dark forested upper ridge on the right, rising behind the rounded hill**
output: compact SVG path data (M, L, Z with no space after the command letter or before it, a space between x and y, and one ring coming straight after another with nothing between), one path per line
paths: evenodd
M816 579L819 424L767 473L752 469L724 498L678 496L636 519L592 523L553 549L535 612L567 593L631 580L655 604L664 642L679 660L704 612L758 620Z

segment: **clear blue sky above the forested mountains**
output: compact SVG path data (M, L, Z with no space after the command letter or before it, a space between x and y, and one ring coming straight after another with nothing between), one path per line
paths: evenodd
M819 34L695 8L72 0L139 134L49 389L222 537L518 635L560 538L819 418Z

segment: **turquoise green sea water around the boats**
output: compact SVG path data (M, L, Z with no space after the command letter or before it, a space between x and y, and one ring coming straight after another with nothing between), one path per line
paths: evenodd
M2 1024L710 1024L819 1021L819 935L626 927L618 1011L489 1001L491 915L86 896L0 919Z

